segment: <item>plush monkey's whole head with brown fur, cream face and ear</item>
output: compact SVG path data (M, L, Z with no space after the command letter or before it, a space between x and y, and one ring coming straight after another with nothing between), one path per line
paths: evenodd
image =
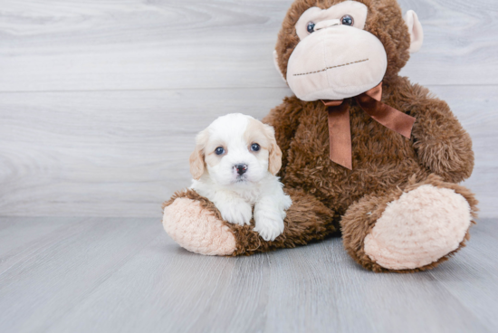
M277 43L283 54L274 56L300 100L357 96L399 71L408 51L421 46L422 28L413 11L404 24L395 0L372 0L389 8L389 15L360 1L330 6L296 0L289 11ZM313 3L320 6L307 5Z

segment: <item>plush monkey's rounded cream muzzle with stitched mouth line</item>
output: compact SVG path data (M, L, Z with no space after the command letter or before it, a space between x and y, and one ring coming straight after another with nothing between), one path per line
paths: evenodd
M287 67L287 82L300 100L344 100L378 85L388 55L365 30L329 24L304 38Z

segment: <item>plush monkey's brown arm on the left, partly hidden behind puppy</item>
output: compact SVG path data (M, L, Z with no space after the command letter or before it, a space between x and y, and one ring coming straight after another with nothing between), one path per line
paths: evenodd
M271 125L275 129L275 138L282 150L282 168L279 172L279 176L282 178L285 175L289 147L291 147L292 138L294 138L296 128L300 123L301 111L301 100L296 97L286 97L281 105L272 109L263 118L263 123Z

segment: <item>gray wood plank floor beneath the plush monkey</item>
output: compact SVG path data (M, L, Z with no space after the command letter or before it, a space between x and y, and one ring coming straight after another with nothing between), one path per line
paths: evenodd
M152 218L0 218L2 332L496 332L498 226L450 262L364 271L340 239L205 257Z

